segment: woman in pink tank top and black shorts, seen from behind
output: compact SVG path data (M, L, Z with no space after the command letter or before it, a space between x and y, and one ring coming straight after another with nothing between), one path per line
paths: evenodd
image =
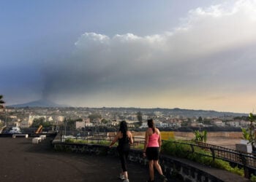
M148 119L148 129L145 132L145 143L143 156L148 159L148 170L149 170L149 180L154 181L154 167L157 169L158 173L164 181L167 178L162 173L162 168L159 165L159 152L161 149L161 135L159 129L154 126L154 120Z

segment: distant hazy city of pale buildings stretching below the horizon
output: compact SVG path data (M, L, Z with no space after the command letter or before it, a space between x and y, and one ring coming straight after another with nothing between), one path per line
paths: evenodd
M49 105L50 106L50 105ZM248 114L189 110L181 108L82 108L7 106L0 109L0 127L37 127L39 123L57 128L89 130L93 127L116 130L125 120L131 130L145 130L153 118L162 130L241 130L248 126Z

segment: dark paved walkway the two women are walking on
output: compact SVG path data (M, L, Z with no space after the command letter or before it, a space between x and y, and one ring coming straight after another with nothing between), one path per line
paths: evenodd
M56 152L51 139L32 144L32 138L0 138L0 181L121 181L116 157ZM131 182L147 180L146 167L129 163L128 169Z

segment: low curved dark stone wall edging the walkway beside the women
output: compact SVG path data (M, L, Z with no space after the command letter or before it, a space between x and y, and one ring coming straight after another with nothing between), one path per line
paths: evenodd
M68 151L84 154L96 154L105 156L118 156L116 147L109 148L95 144L83 143L60 143L53 142L56 151ZM147 160L143 158L142 151L132 149L129 154L129 161L147 166ZM166 177L186 182L247 182L246 178L229 173L225 170L213 169L186 159L177 159L161 155L159 162Z

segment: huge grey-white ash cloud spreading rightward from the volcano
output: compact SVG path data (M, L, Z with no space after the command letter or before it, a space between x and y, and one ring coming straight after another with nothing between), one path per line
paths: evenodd
M231 2L191 10L172 32L113 37L83 33L75 42L72 58L61 60L61 69L50 68L54 71L48 74L48 95L75 92L89 101L106 94L106 105L110 105L110 98L121 103L125 95L157 97L172 92L170 98L176 99L179 92L184 93L178 97L184 98L195 92L196 97L219 98L222 95L212 96L211 92L255 89L249 85L253 80L248 74L252 74L250 68L256 68L251 51L256 46L256 3ZM132 105L131 99L127 102Z

